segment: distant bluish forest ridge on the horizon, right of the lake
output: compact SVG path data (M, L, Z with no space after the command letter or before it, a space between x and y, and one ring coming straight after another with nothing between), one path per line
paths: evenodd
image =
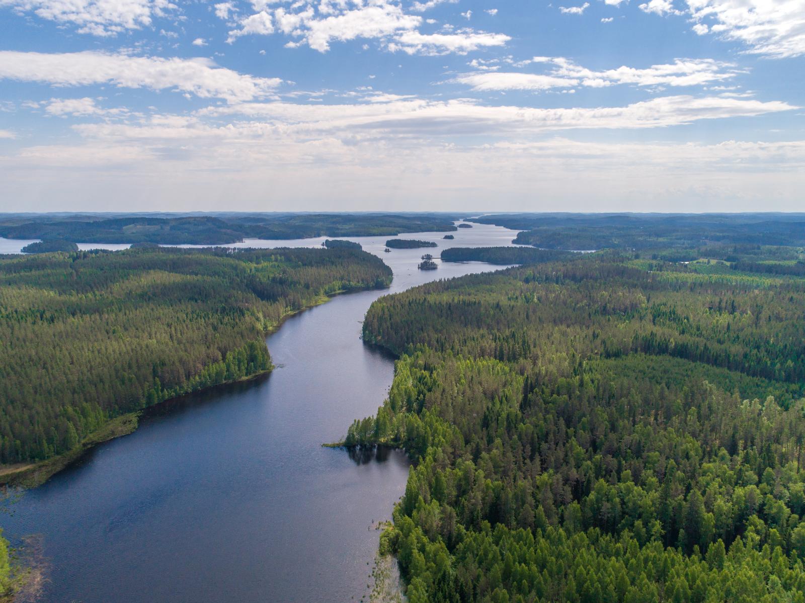
M489 214L473 221L522 230L515 243L543 249L805 245L805 213L514 213Z

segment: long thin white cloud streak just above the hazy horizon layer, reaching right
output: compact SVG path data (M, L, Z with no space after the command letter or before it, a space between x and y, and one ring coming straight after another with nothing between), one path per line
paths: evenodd
M210 107L200 117L214 118L243 115L266 122L242 124L254 132L281 127L283 132L319 136L357 133L377 136L380 132L418 134L433 138L440 135L487 134L523 136L546 130L569 129L645 129L679 126L703 119L751 117L789 111L797 107L782 101L755 101L727 97L658 97L620 107L574 107L540 109L522 106L480 105L473 101L424 101L406 99L356 105L296 105L284 102L244 103ZM86 126L105 131L121 131L123 126ZM184 127L184 126L183 126ZM228 126L231 127L231 126ZM116 130L117 129L117 130ZM87 131L87 130L85 130ZM221 133L222 135L225 132Z

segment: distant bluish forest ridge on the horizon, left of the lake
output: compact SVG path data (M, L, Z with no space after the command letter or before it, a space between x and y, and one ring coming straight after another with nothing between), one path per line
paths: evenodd
M245 238L364 237L456 230L447 214L0 214L0 237L224 245Z

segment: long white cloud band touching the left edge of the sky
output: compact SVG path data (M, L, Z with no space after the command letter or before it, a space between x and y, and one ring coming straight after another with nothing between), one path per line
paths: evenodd
M174 89L197 97L249 101L269 96L282 81L243 75L212 60L163 59L104 52L0 51L0 78L54 86L111 84L119 88Z

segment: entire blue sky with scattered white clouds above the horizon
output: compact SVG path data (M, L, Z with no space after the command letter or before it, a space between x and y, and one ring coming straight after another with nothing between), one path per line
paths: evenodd
M0 212L805 211L805 0L0 0Z

